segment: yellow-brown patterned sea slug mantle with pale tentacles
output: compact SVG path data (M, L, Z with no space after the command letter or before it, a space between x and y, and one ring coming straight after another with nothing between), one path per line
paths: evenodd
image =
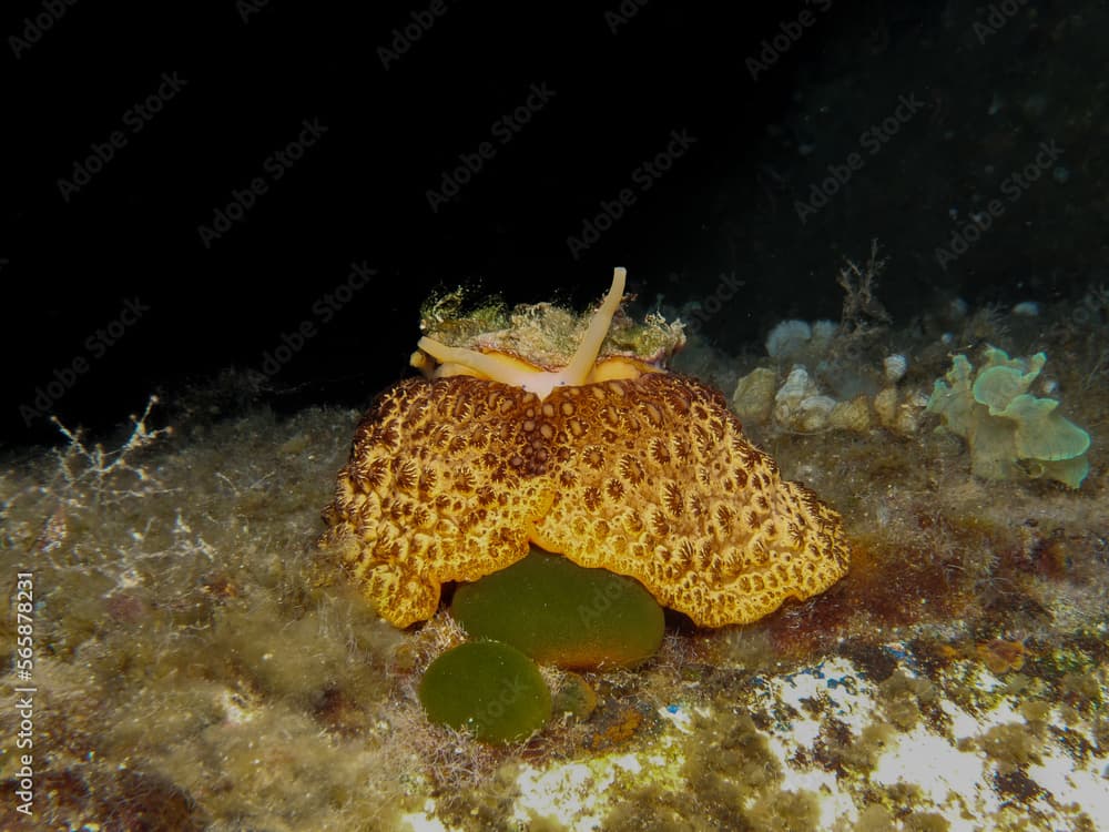
M639 580L703 627L744 623L847 571L840 515L744 437L724 397L632 356L598 361L624 270L564 366L425 336L427 377L381 394L322 544L397 627L531 544Z

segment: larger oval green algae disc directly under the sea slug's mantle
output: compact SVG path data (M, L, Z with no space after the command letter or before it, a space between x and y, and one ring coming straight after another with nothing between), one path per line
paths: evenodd
M662 608L638 581L532 548L455 592L451 613L475 638L563 668L631 667L662 643Z

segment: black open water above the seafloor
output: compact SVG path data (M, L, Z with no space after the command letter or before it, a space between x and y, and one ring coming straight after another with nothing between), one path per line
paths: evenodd
M437 285L584 306L623 265L736 353L835 318L874 239L902 326L1109 280L1103 3L40 0L0 23L14 443L227 366L261 374L240 400L365 404Z

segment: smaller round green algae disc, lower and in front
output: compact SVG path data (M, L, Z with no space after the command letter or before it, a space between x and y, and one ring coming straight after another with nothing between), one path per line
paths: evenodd
M419 701L433 722L468 730L484 742L526 739L551 716L539 668L498 641L471 641L442 653L420 680Z

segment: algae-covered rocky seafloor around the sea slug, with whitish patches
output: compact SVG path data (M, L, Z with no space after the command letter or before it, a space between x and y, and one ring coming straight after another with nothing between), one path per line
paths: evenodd
M745 627L674 616L633 670L545 669L556 701L584 684L596 707L507 747L424 718L419 676L460 637L449 613L397 631L317 554L357 412L228 408L248 384L228 373L106 450L75 432L9 449L0 826L1109 829L1106 298L956 304L904 329L861 316L821 355L693 339L678 369L729 398L759 367L780 393L807 362L820 395L862 403L865 423L745 423L842 513L851 571ZM937 429L935 379L987 344L1046 352L1039 392L1092 438L1080 488L973 476Z

